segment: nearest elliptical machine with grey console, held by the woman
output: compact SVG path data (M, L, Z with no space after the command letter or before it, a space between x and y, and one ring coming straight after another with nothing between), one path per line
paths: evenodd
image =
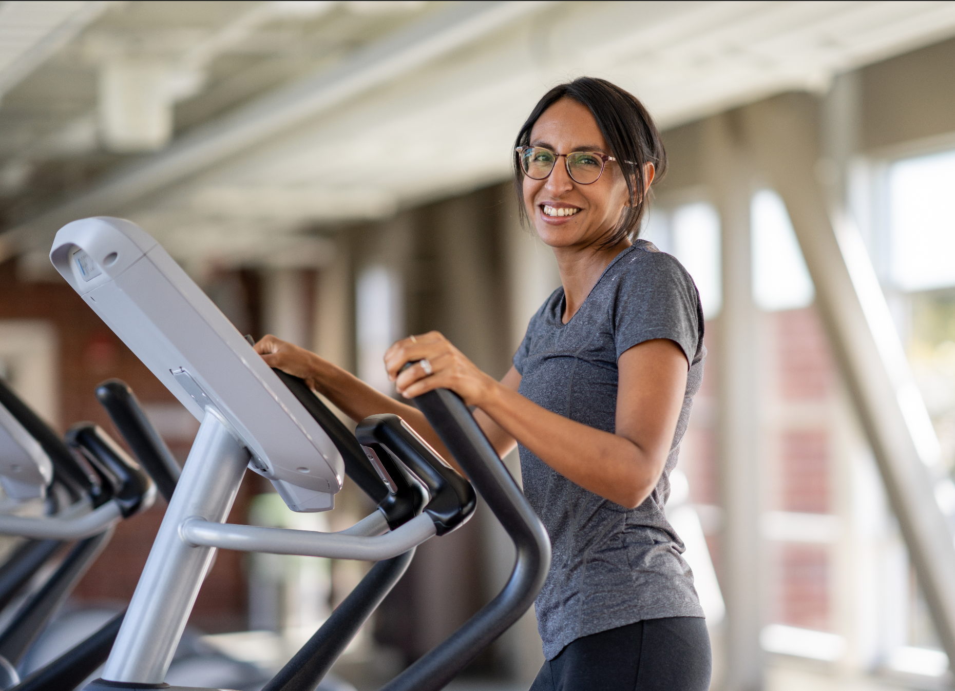
M382 509L338 534L223 523L246 466L271 480L291 510L330 509L341 489L343 449L354 452L353 443L330 431L329 411L303 383L265 366L179 265L135 224L110 218L74 221L57 233L51 260L202 422L103 679L89 684L89 691L170 688L163 679L213 549L388 563L470 517L471 485L400 418L375 415L357 430L364 455L390 493L401 475L424 485L429 502L423 513L393 526ZM550 559L540 520L461 400L438 390L415 404L511 535L517 560L498 597L387 684L389 691L438 689L451 681L530 606ZM367 617L371 609L359 615ZM266 684L267 691L314 688L344 648L326 644L336 639L336 627L350 628L347 613L336 618L339 610Z

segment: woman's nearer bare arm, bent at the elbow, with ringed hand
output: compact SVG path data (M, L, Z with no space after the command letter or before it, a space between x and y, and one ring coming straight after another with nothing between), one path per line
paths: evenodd
M431 363L432 375L421 366L400 371L421 358ZM496 423L496 446L513 437L564 477L628 508L639 506L660 479L688 371L683 351L667 339L626 350L618 360L616 432L610 433L541 408L517 387L494 381L436 332L399 341L385 362L403 395L437 387L456 391Z

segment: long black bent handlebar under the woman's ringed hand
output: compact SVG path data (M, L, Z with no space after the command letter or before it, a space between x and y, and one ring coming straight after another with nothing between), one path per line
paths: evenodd
M456 393L436 389L414 399L444 445L517 548L514 571L503 590L434 650L386 684L382 691L443 688L531 606L550 568L550 540L541 520Z

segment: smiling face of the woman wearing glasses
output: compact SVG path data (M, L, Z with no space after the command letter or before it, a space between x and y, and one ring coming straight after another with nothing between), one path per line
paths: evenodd
M543 112L531 129L530 145L557 154L593 151L612 156L597 120L572 98L562 98ZM558 158L547 178L524 176L524 204L542 241L551 247L585 247L600 241L620 220L628 201L626 181L620 166L607 161L600 179L579 184L567 175L564 160ZM567 209L571 215L557 216Z

